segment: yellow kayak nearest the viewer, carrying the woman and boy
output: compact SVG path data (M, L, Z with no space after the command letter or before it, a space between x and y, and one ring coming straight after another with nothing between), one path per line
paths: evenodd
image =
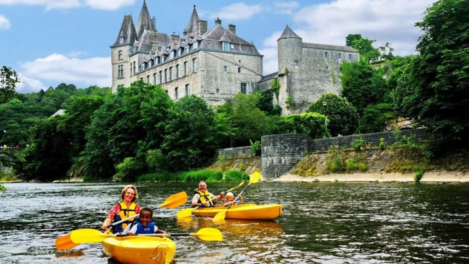
M166 237L108 237L101 242L103 252L123 264L170 264L176 244Z

